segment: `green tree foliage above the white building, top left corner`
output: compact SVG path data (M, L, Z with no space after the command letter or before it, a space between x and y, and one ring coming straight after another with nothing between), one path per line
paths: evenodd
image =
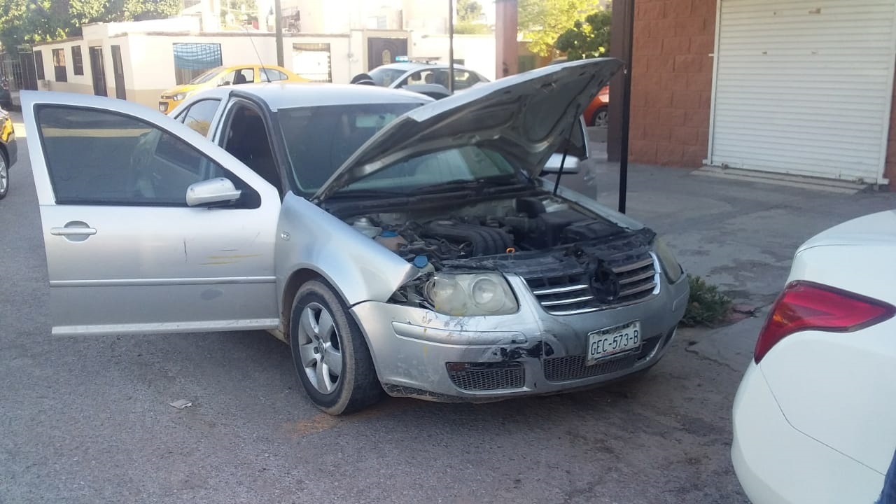
M182 0L0 0L0 44L15 48L76 37L90 22L168 18L182 6Z

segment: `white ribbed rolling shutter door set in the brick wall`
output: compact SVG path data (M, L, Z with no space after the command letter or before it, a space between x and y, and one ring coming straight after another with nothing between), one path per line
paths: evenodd
M883 182L893 0L720 0L710 163Z

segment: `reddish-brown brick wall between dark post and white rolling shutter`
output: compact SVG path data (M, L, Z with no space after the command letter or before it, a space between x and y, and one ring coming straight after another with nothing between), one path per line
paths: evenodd
M630 159L701 166L709 146L716 0L637 0L635 9Z

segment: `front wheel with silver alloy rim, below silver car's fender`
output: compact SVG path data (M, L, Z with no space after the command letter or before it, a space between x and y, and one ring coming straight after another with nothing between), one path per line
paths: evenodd
M358 323L323 282L306 282L298 290L289 343L298 381L324 413L354 413L383 395Z

